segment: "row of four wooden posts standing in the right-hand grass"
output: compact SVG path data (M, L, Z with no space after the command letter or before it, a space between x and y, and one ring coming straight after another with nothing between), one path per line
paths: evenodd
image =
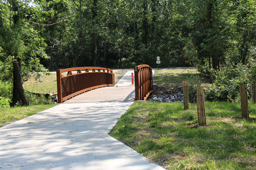
M253 103L256 103L256 83L251 83L251 98ZM205 115L205 100L204 100L204 88L197 87L197 118L199 126L207 125L206 115ZM188 98L188 81L183 81L183 97L184 97L184 109L189 108L189 98ZM249 118L248 109L248 95L247 95L247 84L240 84L240 97L241 97L241 111L242 118Z

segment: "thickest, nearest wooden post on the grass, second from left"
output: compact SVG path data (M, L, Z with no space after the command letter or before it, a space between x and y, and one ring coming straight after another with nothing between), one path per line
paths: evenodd
M205 126L206 117L205 117L205 103L204 103L204 88L197 87L197 118L199 126Z

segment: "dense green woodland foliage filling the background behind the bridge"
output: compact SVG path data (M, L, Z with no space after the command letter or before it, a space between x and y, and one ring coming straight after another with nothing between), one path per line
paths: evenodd
M44 68L157 67L157 56L160 67L209 74L255 62L255 20L254 0L1 0L0 78L15 82L16 69L22 78Z

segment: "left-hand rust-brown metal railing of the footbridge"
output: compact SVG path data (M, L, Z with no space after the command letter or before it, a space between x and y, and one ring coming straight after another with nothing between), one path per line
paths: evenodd
M72 73L76 71L76 73ZM94 88L113 86L113 70L103 67L76 67L57 72L58 103ZM67 74L64 74L67 73Z

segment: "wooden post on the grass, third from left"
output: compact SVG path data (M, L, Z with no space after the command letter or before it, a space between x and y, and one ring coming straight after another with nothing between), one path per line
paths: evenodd
M245 83L240 84L240 97L242 118L249 118L247 85Z

